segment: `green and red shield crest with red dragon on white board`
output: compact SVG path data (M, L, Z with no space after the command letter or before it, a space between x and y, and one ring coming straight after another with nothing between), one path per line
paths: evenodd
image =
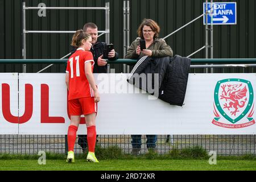
M253 125L253 93L253 86L248 80L229 78L218 81L214 89L215 118L212 123L231 129Z

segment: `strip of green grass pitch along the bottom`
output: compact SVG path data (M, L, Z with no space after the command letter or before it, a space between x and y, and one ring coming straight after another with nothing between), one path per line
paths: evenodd
M85 159L76 159L75 163L66 163L63 159L48 159L46 164L38 164L36 159L1 159L0 170L85 170L85 171L179 171L179 170L256 170L256 160L217 160L210 165L206 159L108 159L100 163L89 163Z

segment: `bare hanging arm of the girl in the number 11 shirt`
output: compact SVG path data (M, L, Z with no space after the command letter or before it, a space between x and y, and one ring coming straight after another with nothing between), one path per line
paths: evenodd
M88 61L84 64L84 72L85 72L85 76L86 76L90 86L92 87L92 89L94 91L94 95L95 95L94 101L99 102L100 94L98 93L98 89L97 89L96 83L94 81L93 73L92 73L92 61Z

